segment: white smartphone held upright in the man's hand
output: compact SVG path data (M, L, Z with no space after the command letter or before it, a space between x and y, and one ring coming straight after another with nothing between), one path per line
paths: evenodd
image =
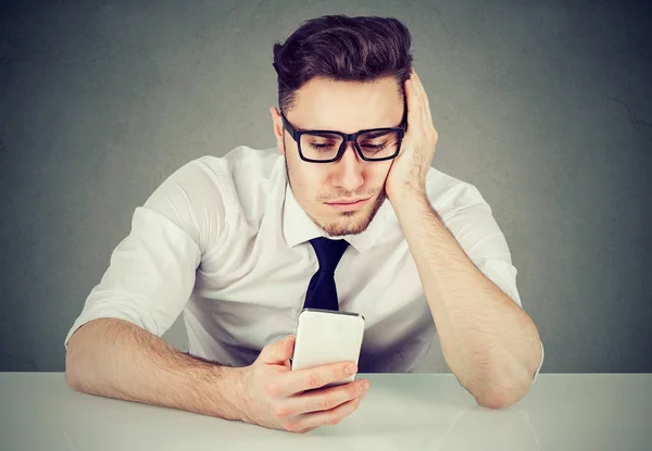
M364 316L334 310L303 309L297 324L291 369L304 369L343 361L358 364ZM355 375L326 385L333 387L353 381Z

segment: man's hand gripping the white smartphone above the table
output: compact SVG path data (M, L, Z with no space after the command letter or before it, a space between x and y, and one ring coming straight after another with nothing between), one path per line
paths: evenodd
M355 374L353 362L291 371L293 350L294 337L289 336L264 347L256 361L242 368L238 397L242 421L303 434L336 425L358 409L366 394L367 380L321 389Z

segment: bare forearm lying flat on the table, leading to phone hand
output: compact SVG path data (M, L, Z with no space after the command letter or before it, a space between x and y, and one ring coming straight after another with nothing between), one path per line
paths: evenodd
M90 394L239 419L239 372L184 354L128 322L102 318L71 337L65 378Z

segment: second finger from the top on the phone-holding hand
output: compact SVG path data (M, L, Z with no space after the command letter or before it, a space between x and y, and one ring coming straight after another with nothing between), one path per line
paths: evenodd
M280 417L291 417L311 412L329 411L365 394L368 386L366 380L355 380L337 387L298 394L288 398L277 410L277 414Z

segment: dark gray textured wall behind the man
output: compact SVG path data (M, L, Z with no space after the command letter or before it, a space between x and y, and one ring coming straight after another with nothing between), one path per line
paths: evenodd
M191 159L275 146L273 43L344 13L411 29L434 165L492 205L543 372L651 372L652 14L615 3L4 4L0 371L63 371L134 209ZM186 349L179 322L165 339Z

